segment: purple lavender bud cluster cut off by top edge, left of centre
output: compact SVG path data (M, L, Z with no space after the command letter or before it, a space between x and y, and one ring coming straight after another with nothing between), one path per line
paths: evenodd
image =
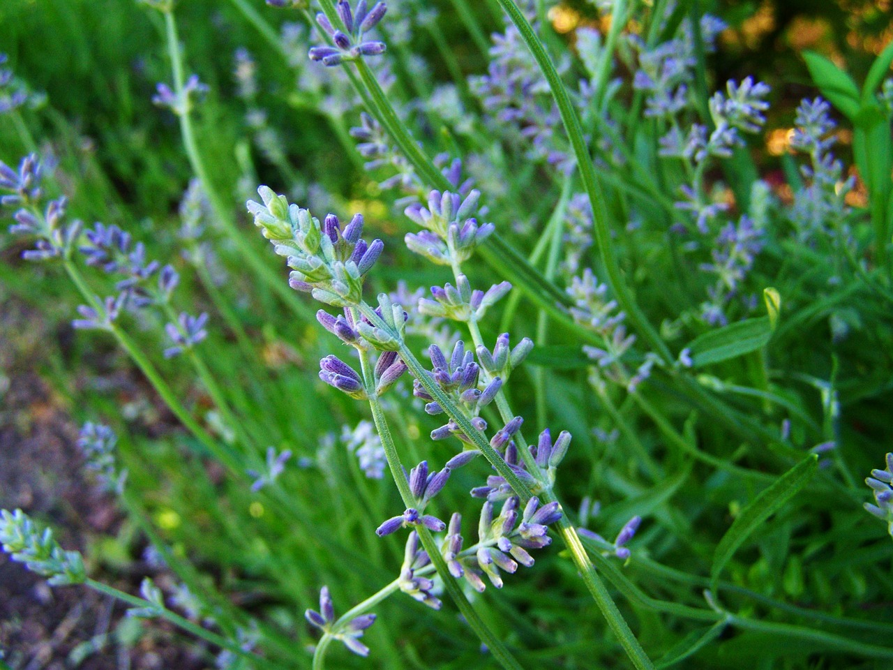
M317 14L316 22L329 34L334 46L313 46L310 59L332 66L355 61L364 55L383 54L386 48L384 42L365 40L363 33L375 28L388 7L384 3L376 3L371 9L367 9L367 6L366 0L359 0L356 11L352 12L347 0L338 0L335 8L346 32L336 29L325 14Z

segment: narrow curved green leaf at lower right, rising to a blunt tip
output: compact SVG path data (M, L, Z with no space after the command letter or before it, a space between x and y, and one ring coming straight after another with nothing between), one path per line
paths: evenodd
M713 590L719 580L722 568L729 562L739 547L756 528L784 506L797 491L802 490L818 470L819 457L815 454L806 456L804 460L792 467L781 478L754 498L747 507L741 510L722 540L716 546L714 566L711 570Z

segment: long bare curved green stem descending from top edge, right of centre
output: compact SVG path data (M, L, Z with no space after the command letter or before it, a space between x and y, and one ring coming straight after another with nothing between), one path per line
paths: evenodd
M524 14L518 9L518 6L514 4L513 0L498 0L498 2L512 20L515 28L518 29L524 43L530 49L530 53L536 59L540 71L546 77L552 96L555 98L555 104L558 105L558 112L561 114L564 130L571 140L573 153L577 159L580 178L583 180L583 186L586 188L589 202L592 204L593 229L597 247L602 264L605 266L606 279L613 291L613 295L617 298L621 309L626 312L633 328L647 340L648 345L655 353L661 356L667 363L671 363L672 355L670 349L667 348L658 332L647 321L645 314L638 308L623 278L620 264L617 263L611 239L611 229L608 225L605 196L598 183L595 164L589 155L586 140L583 138L583 129L580 126L580 118L571 102L571 97L568 95L567 89L564 88L561 77L558 75L558 71L555 70L555 65L552 63L552 59L549 58L546 48L539 41L539 38L534 33Z

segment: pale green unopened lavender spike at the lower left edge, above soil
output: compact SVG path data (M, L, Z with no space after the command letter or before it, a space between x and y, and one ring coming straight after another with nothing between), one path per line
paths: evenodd
M87 580L84 561L77 551L65 551L54 539L53 532L41 531L28 515L15 510L0 510L0 545L13 558L24 563L33 573L53 586L80 584Z

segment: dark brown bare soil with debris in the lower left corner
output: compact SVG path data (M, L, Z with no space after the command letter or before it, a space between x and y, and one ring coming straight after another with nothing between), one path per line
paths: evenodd
M88 551L96 538L117 532L122 516L84 472L75 448L78 427L36 372L60 339L20 302L0 302L0 507L21 507L51 524L66 549ZM126 574L91 576L131 593L146 574L165 580L140 561L131 567ZM157 622L141 624L140 631L124 613L121 604L84 587L51 589L0 553L0 649L13 670L212 665L194 641Z

